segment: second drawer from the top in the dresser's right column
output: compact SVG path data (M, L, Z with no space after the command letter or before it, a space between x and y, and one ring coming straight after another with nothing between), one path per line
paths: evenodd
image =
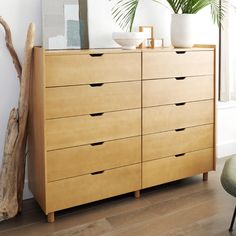
M213 76L145 80L143 106L213 99Z

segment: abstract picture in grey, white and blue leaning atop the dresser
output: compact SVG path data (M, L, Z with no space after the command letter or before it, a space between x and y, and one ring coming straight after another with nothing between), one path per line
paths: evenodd
M87 0L43 0L43 47L88 49Z

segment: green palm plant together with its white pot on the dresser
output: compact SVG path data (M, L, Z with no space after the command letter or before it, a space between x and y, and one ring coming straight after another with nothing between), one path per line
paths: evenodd
M113 0L111 0L113 1ZM119 0L112 8L112 16L124 30L132 30L140 0ZM162 4L158 0L152 0ZM227 2L219 0L166 0L173 12L171 19L171 43L174 47L192 47L194 44L195 14L210 6L214 23L221 24ZM163 5L163 4L162 4Z

